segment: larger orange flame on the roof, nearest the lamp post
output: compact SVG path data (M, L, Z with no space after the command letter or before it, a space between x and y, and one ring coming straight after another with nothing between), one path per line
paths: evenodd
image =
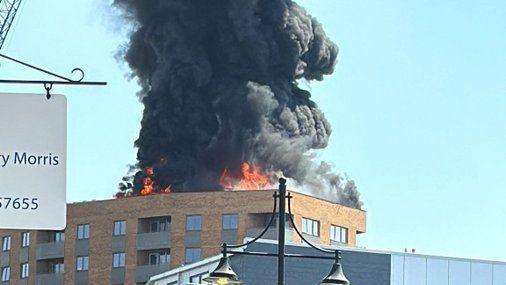
M223 171L220 183L226 190L261 190L271 188L267 175L258 166L243 163L241 167L242 177L232 178L227 168Z

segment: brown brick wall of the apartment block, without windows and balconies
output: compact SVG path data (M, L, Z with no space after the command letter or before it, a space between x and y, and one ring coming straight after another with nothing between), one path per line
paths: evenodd
M77 225L90 224L89 240L89 284L110 284L112 270L113 223L127 221L125 284L134 284L137 267L137 230L140 218L171 217L171 268L184 263L185 225L187 215L201 215L202 258L219 253L223 214L238 214L238 242L246 237L248 228L258 225L254 214L272 211L272 191L232 191L171 193L119 200L105 200L69 204L67 228L65 231L65 284L74 284L76 275ZM354 246L356 234L365 232L366 213L341 205L319 200L307 195L293 193L292 210L300 229L302 217L320 221L321 242L329 244L330 225L349 228L349 245ZM28 284L35 284L36 234L31 233L30 278ZM12 236L10 252L11 283L18 284L20 276L19 248L21 231L0 230L0 238ZM2 265L4 266L4 265Z

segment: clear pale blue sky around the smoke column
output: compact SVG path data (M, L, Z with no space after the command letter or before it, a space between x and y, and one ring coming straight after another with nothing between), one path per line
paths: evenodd
M110 198L135 161L139 88L101 2L26 0L3 49L109 82L54 90L69 98L69 201ZM336 72L310 88L334 129L320 157L365 202L359 244L506 260L506 2L298 2L340 48ZM0 77L41 76L1 61Z

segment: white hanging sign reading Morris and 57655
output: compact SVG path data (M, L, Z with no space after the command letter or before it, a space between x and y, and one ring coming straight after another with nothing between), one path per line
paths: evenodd
M0 229L66 225L67 100L0 93Z

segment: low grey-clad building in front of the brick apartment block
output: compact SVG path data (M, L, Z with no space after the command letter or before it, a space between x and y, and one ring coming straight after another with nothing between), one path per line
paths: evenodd
M372 251L332 246L343 251L343 271L356 285L505 285L506 262ZM275 252L274 241L260 240L247 250ZM315 255L314 249L288 244L290 253ZM173 269L154 276L148 285L201 285L218 265L221 256ZM230 263L248 285L276 284L276 258L235 255ZM332 262L318 259L286 259L286 284L319 284Z

